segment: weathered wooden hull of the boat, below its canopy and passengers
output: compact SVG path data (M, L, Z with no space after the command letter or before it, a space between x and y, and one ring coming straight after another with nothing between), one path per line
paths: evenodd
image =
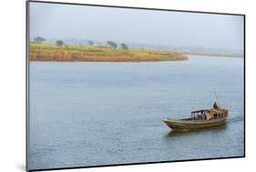
M167 119L163 122L169 126L174 131L189 131L189 130L196 130L202 129L212 126L220 126L223 125L226 121L227 116L224 116L219 119L212 119L212 120L193 120L193 119Z

